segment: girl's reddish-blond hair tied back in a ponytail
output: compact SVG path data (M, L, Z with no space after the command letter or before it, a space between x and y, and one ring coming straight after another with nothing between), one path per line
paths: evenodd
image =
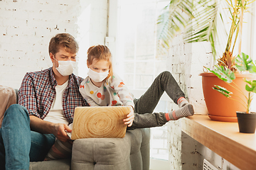
M113 76L112 56L106 45L94 45L87 50L87 63L92 64L93 60L106 60L110 64L110 72L106 79Z

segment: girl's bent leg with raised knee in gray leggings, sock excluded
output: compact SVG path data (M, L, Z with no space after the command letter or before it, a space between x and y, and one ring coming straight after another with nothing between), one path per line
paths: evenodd
M151 84L144 95L139 99L134 99L134 113L152 113L164 91L166 91L166 94L174 103L177 103L179 98L185 96L171 73L167 71L162 72L154 79L153 84Z

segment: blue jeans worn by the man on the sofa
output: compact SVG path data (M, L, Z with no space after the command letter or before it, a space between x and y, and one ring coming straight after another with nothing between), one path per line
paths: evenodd
M29 169L29 162L42 161L54 142L53 134L31 131L26 108L11 105L0 128L0 169Z

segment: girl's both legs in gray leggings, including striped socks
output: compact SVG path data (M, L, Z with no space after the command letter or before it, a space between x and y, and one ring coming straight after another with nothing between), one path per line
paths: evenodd
M178 104L180 109L170 113L152 113L164 91ZM128 129L162 126L169 120L178 120L178 118L193 115L193 106L188 104L184 96L171 73L162 72L144 95L139 99L134 99L134 121L132 127Z

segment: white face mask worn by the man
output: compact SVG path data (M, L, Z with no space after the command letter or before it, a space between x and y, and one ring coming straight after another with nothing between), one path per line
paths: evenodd
M56 60L56 59L55 59ZM58 61L58 60L57 60ZM54 63L55 64L55 63ZM57 69L57 71L63 75L64 77L65 76L69 76L70 74L73 73L73 69L74 69L74 66L75 66L75 62L73 61L58 61L58 67L56 67L55 65L55 68Z

